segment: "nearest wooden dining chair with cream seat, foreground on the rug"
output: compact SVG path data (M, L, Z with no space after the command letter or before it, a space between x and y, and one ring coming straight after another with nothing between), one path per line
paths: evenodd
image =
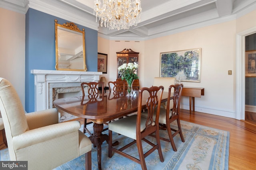
M146 162L145 158L150 153L152 153L154 150L158 150L158 154L160 157L160 161L164 162L164 157L162 155L161 145L160 145L160 138L159 138L159 125L158 125L158 117L159 117L159 111L160 111L160 103L162 100L162 94L163 94L164 87L163 86L152 86L150 88L141 88L139 90L139 96L138 96L138 113L137 115L131 115L128 117L124 117L123 119L118 119L116 121L112 121L108 123L108 157L112 157L112 151L116 152L118 154L121 154L122 156L125 156L126 158L129 158L133 160L134 162L137 162L141 165L142 170L146 170ZM160 93L158 93L160 91ZM148 95L147 101L146 101L146 107L147 107L147 114L148 117L144 118L141 117L142 113L142 96ZM153 121L153 113L156 111L156 119ZM118 134L124 135L126 137L134 139L131 143L128 145L125 145L124 147L120 149L116 149L112 147L112 132L116 132ZM156 144L151 143L147 139L145 139L146 136L155 133L156 134ZM149 145L152 146L150 150L148 150L145 154L142 149L142 141L145 141ZM135 158L125 152L123 150L127 149L128 147L132 146L133 144L137 145L138 148L138 154L139 159Z

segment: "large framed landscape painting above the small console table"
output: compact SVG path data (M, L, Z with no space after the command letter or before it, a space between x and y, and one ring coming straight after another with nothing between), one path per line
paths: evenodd
M160 77L200 82L201 48L160 53Z

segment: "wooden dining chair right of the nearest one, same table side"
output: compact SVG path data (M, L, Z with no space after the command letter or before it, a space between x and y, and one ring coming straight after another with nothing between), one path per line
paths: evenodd
M159 113L159 129L167 129L169 139L164 137L160 137L161 140L170 142L172 145L172 149L176 152L177 148L174 143L174 136L180 134L180 138L182 142L185 142L184 137L182 135L182 130L180 126L180 100L182 95L183 84L175 84L169 86L168 98L167 98L167 108L160 108ZM171 99L173 92L173 100ZM173 102L173 108L170 109L170 102ZM142 115L142 117L146 117L146 115ZM154 119L156 117L156 113L154 113ZM177 121L178 129L171 128L170 124L174 121ZM174 133L172 134L172 131ZM154 136L154 135L152 135Z

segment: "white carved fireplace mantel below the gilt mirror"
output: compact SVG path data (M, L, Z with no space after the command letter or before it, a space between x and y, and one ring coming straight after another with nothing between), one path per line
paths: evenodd
M98 82L102 72L31 70L35 84L35 111L52 108L51 87L77 87L81 82Z

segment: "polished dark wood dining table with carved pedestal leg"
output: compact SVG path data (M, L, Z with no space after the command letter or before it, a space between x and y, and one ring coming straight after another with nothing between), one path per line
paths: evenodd
M80 96L60 98L54 101L54 106L72 115L90 119L93 124L93 136L90 136L92 144L97 147L98 169L101 170L101 145L108 142L108 135L102 134L104 123L129 115L138 110L138 90L133 91L131 98L126 97L126 92L104 93L97 98ZM167 101L168 92L164 92L162 102ZM148 96L143 96L142 107L146 107Z

